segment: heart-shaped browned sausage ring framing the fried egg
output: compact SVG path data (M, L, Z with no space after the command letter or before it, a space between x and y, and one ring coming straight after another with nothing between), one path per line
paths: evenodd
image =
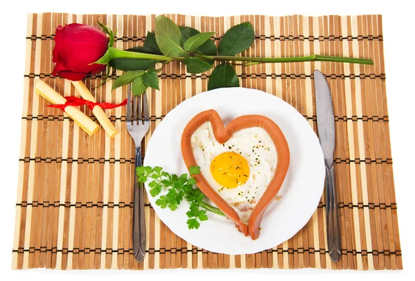
M217 142L223 144L232 137L232 134L238 130L244 128L260 127L266 130L266 133L270 135L270 138L273 140L275 148L277 150L277 168L275 173L270 180L268 187L264 191L264 194L259 198L252 213L250 214L248 220L248 226L241 222L241 219L237 212L226 202L223 198L214 191L214 189L208 184L205 177L202 173L195 175L196 184L199 186L201 191L209 197L216 206L230 219L232 220L237 229L241 231L245 236L250 235L252 240L256 240L259 236L260 224L262 216L264 215L266 209L271 202L277 196L279 188L281 188L286 173L288 171L288 165L290 162L290 151L286 138L282 133L282 130L279 128L273 120L262 115L243 115L233 119L227 126L223 126L223 122L216 110L206 110L190 120L185 129L183 130L183 135L181 139L181 150L183 154L183 159L187 168L190 166L197 166L194 153L192 151L192 135L194 131L202 126L205 122L210 122L212 124L212 130L214 137Z

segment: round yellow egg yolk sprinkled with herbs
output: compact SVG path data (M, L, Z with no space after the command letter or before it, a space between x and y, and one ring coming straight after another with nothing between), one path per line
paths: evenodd
M225 152L214 157L210 171L221 186L235 188L248 180L249 165L238 153Z

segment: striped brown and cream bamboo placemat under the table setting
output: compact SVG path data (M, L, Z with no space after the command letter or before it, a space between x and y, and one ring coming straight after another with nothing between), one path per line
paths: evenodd
M241 86L277 95L293 105L316 129L313 70L329 77L336 130L342 259L331 262L326 246L325 202L293 238L252 255L210 253L188 244L145 206L145 261L133 258L133 142L126 130L125 107L107 110L120 134L104 130L89 137L61 110L45 107L34 94L42 79L59 93L77 95L70 81L53 77L54 32L66 23L97 27L97 19L116 33L116 48L142 46L155 16L106 14L29 14L26 35L24 105L12 268L31 269L221 269L284 268L402 269L392 175L389 117L385 92L382 17L191 17L167 15L178 25L217 32L243 21L255 27L246 56L290 57L309 54L364 57L374 66L329 62L237 66ZM102 76L86 77L98 101L120 102L126 88L110 92L113 79L96 88ZM207 77L190 75L180 64L161 74L160 91L147 92L151 104L149 142L160 121L181 101L207 90ZM89 108L81 108L92 115ZM94 118L92 116L92 118ZM179 148L178 148L179 149ZM143 153L145 157L145 153Z

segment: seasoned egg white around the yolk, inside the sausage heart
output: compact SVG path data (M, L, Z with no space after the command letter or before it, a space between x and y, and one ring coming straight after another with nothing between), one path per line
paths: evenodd
M192 150L208 184L237 211L242 222L248 222L277 168L277 151L270 135L260 127L246 128L235 132L225 144L219 144L212 125L205 122L192 135ZM214 157L230 151L245 157L250 168L247 182L236 188L221 186L210 171Z

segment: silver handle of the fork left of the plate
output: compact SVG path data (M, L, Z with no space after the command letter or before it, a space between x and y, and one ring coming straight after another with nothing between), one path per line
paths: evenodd
M138 262L144 260L145 255L145 211L144 188L137 180L136 168L141 166L141 148L136 148L136 166L134 167L134 205L133 205L133 249L134 257Z

